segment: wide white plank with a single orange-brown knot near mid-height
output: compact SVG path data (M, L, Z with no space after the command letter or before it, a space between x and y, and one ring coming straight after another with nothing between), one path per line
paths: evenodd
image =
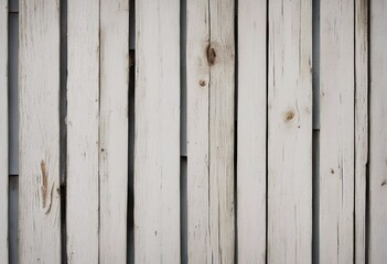
M312 261L312 1L269 4L268 262Z

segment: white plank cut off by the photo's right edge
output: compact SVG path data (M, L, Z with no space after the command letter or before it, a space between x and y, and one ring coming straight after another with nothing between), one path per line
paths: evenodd
M387 260L387 2L370 1L369 263Z

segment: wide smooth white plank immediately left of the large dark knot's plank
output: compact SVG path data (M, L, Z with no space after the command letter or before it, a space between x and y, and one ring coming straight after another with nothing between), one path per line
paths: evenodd
M180 3L136 2L135 262L180 263Z

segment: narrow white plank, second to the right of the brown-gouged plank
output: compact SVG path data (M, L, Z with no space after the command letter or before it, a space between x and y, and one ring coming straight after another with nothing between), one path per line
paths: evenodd
M99 262L127 263L129 1L100 1Z

